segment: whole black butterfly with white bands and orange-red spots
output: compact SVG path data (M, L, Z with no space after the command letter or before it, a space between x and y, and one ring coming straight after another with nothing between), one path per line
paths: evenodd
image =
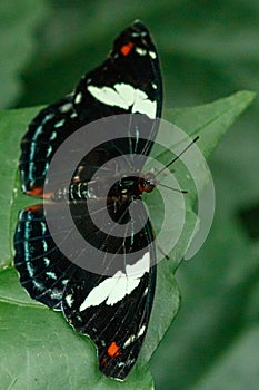
M156 186L151 174L140 173L158 130L156 118L161 116L161 105L157 50L147 28L136 21L116 39L107 60L82 77L73 94L39 113L21 143L23 192L49 196L51 201L49 205L28 207L19 215L14 264L21 284L30 296L61 310L77 331L90 335L98 348L100 370L121 380L138 358L153 301L153 232L139 201L143 192ZM128 115L118 117L120 114ZM114 118L121 137L107 140L87 154L73 169L69 186L62 185L60 173L57 189L44 194L46 175L60 145L82 126L106 117ZM109 165L121 156L119 164ZM108 168L102 169L104 163ZM91 181L97 169L99 176ZM108 176L116 177L111 188L108 188ZM117 224L126 226L124 236L114 235L112 228L109 231L109 223L103 218L104 189L108 191L108 214ZM74 264L50 234L46 222L48 213L58 221L56 238L69 242L77 253L73 232L66 230L58 212L66 202L77 230L92 247L103 253L101 275L87 266L91 251L83 254L86 266ZM93 223L92 209L103 230ZM141 227L136 231L136 226ZM122 263L121 259L124 259ZM129 270L136 271L132 279Z

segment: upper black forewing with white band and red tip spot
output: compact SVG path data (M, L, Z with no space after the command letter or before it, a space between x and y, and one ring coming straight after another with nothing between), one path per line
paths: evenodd
M87 121L129 114L129 134L120 150L148 154L158 130L155 119L160 118L161 108L157 50L147 28L135 22L117 38L107 60L82 77L74 91L74 109ZM135 124L131 115L137 113L143 116L141 123L138 118Z

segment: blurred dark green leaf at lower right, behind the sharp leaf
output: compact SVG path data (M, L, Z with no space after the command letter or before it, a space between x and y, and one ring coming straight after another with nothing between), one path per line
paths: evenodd
M151 361L159 389L167 390L170 382L176 390L197 390L203 380L211 383L218 368L222 374L217 374L218 389L231 389L226 355L239 350L240 338L246 332L249 337L250 326L258 322L258 253L237 222L216 214L203 247L177 272L182 308ZM243 371L255 378L257 363L250 364L250 353L241 361L238 357L232 371L240 380Z

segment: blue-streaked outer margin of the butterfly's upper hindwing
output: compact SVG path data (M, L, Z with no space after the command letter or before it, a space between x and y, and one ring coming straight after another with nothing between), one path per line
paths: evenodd
M19 167L23 192L42 196L51 158L63 140L83 124L73 109L71 96L37 115L21 142Z

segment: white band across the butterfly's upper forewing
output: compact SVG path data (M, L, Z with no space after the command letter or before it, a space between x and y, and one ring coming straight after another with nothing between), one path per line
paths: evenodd
M89 92L99 101L123 109L132 107L132 113L146 114L150 119L156 118L157 103L149 100L141 89L133 88L128 84L116 84L110 87L88 86Z

